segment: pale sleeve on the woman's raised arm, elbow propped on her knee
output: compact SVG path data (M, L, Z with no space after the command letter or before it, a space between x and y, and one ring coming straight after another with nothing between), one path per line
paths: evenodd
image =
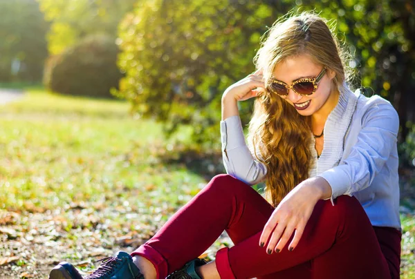
M266 177L266 166L254 159L248 148L239 115L221 121L223 165L226 173L249 185Z

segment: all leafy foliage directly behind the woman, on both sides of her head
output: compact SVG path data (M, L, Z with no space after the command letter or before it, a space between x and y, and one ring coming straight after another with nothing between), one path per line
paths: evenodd
M168 132L181 123L192 124L194 140L212 146L218 142L221 94L252 73L261 35L292 8L315 9L338 20L340 39L347 39L346 47L355 55L349 66L360 70L355 85L370 86L396 100L405 123L407 110L401 104L415 88L414 9L409 1L295 3L298 6L288 0L138 1L120 23L118 65L126 77L117 95L128 99L140 115L165 122ZM251 104L239 104L244 124Z

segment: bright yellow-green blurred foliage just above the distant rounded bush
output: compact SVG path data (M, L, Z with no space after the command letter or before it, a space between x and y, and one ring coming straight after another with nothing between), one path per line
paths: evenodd
M117 26L136 0L37 0L51 22L48 49L57 55L89 35L115 39Z

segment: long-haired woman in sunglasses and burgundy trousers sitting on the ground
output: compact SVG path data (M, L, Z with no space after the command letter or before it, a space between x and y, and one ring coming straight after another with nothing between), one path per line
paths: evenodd
M260 70L223 93L228 175L87 278L399 278L398 115L351 92L343 57L317 15L277 22ZM251 97L248 147L237 102ZM267 200L248 186L261 181ZM234 247L197 259L223 230ZM82 277L62 262L50 278Z

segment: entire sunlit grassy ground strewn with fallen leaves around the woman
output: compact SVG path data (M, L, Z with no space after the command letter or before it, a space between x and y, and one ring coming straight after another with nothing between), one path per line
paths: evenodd
M59 260L89 270L93 258L131 251L206 182L160 160L187 143L185 128L165 140L125 102L29 90L0 107L0 126L0 258L19 257L10 278L44 278ZM401 278L415 278L415 221L402 220Z

